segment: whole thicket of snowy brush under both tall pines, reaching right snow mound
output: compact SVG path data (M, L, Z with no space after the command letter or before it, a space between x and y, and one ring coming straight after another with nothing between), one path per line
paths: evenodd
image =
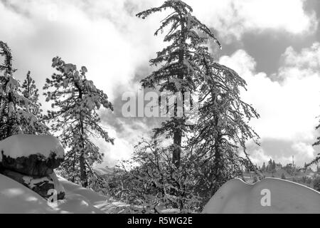
M185 151L176 167L172 150L156 140L140 142L132 159L123 161L110 175L110 196L156 211L175 208L180 212L201 212L221 185L241 177L240 167L247 164L245 159L238 160L237 165L225 160L220 178L215 180L213 160Z

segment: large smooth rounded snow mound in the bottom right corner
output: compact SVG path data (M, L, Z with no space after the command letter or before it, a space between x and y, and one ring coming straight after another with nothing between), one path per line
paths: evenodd
M265 178L253 185L230 180L213 195L203 213L320 213L320 192L287 180Z

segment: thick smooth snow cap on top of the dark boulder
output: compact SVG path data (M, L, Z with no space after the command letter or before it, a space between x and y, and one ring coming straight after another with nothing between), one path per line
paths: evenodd
M52 153L56 158L63 158L65 155L61 142L51 135L13 135L0 142L0 162L2 152L14 159L30 155L48 158Z

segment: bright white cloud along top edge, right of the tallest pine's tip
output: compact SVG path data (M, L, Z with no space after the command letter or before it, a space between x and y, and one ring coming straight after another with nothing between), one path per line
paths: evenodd
M194 13L213 26L223 38L240 40L246 32L277 31L293 35L314 33L315 12L306 14L305 0L210 0L186 1Z

